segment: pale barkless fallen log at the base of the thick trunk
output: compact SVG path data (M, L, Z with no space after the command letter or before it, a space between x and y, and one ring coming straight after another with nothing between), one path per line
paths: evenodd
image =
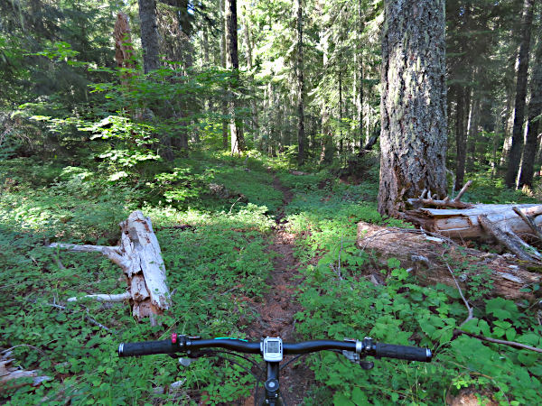
M523 239L536 237L530 226L514 212L518 208L528 217L534 217L533 223L542 223L542 206L529 205L475 205L467 209L439 209L439 208L416 208L407 210L403 214L406 221L424 230L444 235L454 239L480 239L481 241L493 241L494 236L485 230L478 219L485 215L488 219L497 223L500 228L510 231Z

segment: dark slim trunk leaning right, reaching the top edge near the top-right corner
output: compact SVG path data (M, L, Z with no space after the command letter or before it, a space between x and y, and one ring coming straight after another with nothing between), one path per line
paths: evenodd
M521 23L521 44L519 45L518 81L516 83L516 106L514 110L514 130L510 148L510 159L506 173L506 186L516 187L519 161L523 151L523 122L525 120L525 97L527 96L528 53L530 48L531 28L533 24L533 9L535 0L525 0L523 21Z

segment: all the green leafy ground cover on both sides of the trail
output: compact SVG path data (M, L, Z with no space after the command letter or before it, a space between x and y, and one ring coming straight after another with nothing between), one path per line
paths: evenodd
M201 397L222 405L248 398L252 378L235 364L203 358L179 369L163 356L119 359L116 348L123 341L160 339L172 330L245 337L246 324L259 317L255 303L267 291L275 255L268 247L279 211L285 230L296 236L296 262L302 263L302 272L289 281L296 292L292 300L303 307L295 315L298 339L371 336L428 346L436 354L431 364L379 360L370 371L332 353L312 355L306 364L316 384L304 393L303 404L444 404L447 394L464 387L490 388L502 405L540 399L539 355L453 335L466 318L458 291L421 287L397 261L372 269L368 254L355 245L357 222L407 226L378 214L375 171L362 180L338 180L315 168L311 175L295 176L287 171L287 160L251 156L244 161L199 152L173 162L182 171L163 172L177 175L164 175L157 188L157 183L142 186L136 176L131 183L112 182L109 173L98 171L99 162L64 162L39 171L35 159L9 161L9 168L0 163L7 173L0 200L0 346L14 347L24 369L41 369L53 378L37 389L9 393L4 401L10 405L56 405L64 399L78 405L188 405ZM284 208L274 176L293 193ZM246 198L236 203L237 198L211 196L210 182ZM477 180L472 199L490 196L490 189L490 180ZM175 192L184 196L171 198L181 196ZM494 194L499 201L532 199L516 195ZM135 208L153 219L167 278L176 290L162 327L136 324L126 305L66 302L78 294L125 291L121 272L98 254L45 247L54 241L114 245L117 223ZM192 228L174 228L179 225ZM452 265L462 271L462 264ZM370 282L369 269L380 272L387 285ZM491 289L488 281L481 284ZM538 285L526 289L539 292ZM480 286L466 294L476 309L463 329L542 346L536 303L490 300ZM153 392L181 380L186 381L174 396Z

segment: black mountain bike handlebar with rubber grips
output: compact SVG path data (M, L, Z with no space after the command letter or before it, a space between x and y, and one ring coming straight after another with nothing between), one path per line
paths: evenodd
M173 333L171 339L162 341L143 341L139 343L122 343L118 346L118 355L173 355L186 353L189 356L202 348L223 348L244 354L261 354L260 341L246 341L235 338L201 339L197 336L177 336ZM364 340L345 338L345 341L314 340L298 343L284 343L285 355L302 355L324 350L340 350L378 358L405 359L408 361L430 362L433 355L428 348L416 346L396 346L391 344L374 343L366 337Z

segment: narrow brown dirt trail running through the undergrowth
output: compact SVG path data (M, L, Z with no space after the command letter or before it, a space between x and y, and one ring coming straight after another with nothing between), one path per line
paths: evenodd
M302 310L301 305L292 297L295 292L295 286L299 282L294 279L298 275L298 268L301 265L294 258L294 238L295 235L288 233L285 230L284 209L287 204L294 198L294 193L290 189L285 188L280 180L273 176L273 187L280 190L284 194L283 206L278 209L276 215L276 227L273 235L272 245L269 250L276 253L273 258L273 271L266 280L270 290L264 294L264 299L261 302L255 303L254 308L260 315L244 330L248 337L259 339L261 337L281 337L285 341L301 340L295 334L295 313ZM292 355L285 356L282 364L285 364ZM314 381L314 374L305 364L305 357L301 357L301 364L289 364L280 374L280 392L282 392L287 406L302 405L306 392L311 387ZM261 365L264 363L262 362ZM263 383L266 382L265 375L263 382L260 383L258 393L261 396L263 393ZM239 405L253 406L254 405L254 390L251 396L244 399Z

